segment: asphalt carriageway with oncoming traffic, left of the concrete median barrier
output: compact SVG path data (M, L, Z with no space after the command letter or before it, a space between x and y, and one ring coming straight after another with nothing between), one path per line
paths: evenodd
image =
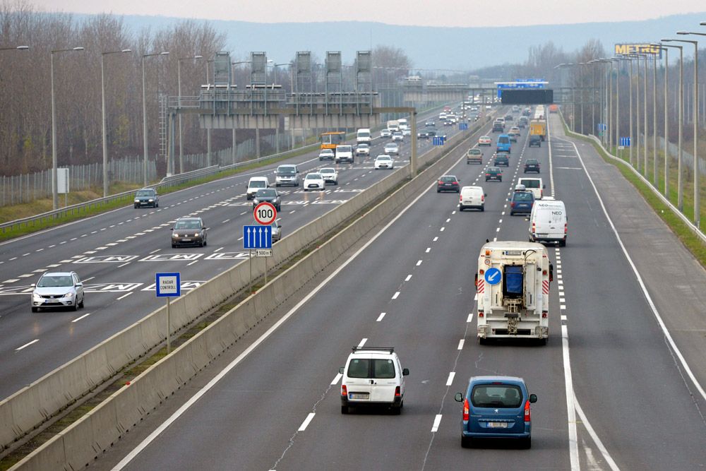
M424 126L429 112L419 115ZM444 129L449 135L458 126ZM375 134L376 136L378 133ZM409 136L395 157L396 167L406 165ZM373 141L371 156L355 165L335 165L313 153L283 160L297 163L304 175L320 167L337 167L337 186L323 192L304 192L301 186L282 186L283 236L344 203L388 172L375 171L373 160L384 142ZM419 152L431 148L419 141ZM68 362L119 330L130 326L157 307L155 273L179 271L183 292L197 287L247 258L241 227L253 224L252 202L245 190L251 176L274 181L276 165L268 165L160 197L160 208L132 206L79 220L37 234L0 244L0 397L5 398L28 383ZM198 215L208 227L203 248L170 246L169 228L177 217ZM30 283L47 270L74 270L85 283L85 307L76 312L30 311Z

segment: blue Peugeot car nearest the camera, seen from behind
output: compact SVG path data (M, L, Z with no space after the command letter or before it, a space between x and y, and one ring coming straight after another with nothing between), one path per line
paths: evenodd
M522 378L473 376L466 393L456 393L455 400L463 403L463 448L474 439L515 439L521 448L532 446L530 404L537 395L527 392Z

